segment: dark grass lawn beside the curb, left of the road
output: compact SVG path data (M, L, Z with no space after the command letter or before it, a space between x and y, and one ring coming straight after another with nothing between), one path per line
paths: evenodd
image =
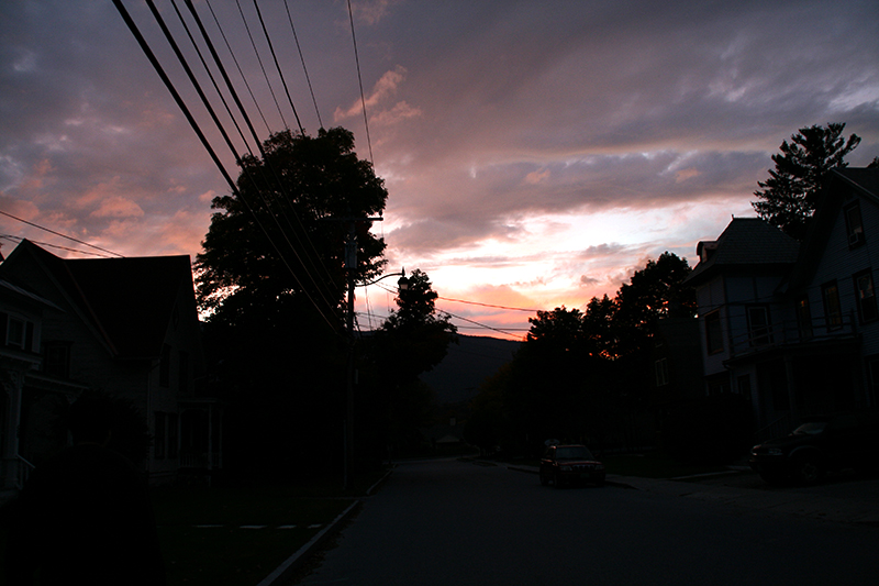
M331 480L154 490L168 584L258 584L382 475L359 475L349 493Z

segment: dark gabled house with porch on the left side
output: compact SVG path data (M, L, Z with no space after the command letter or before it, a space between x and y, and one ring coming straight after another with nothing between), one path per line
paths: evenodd
M146 418L152 483L221 465L220 405L198 389L204 358L188 256L66 259L25 240L0 264L0 284L4 461L26 468L63 447L59 417L89 388Z

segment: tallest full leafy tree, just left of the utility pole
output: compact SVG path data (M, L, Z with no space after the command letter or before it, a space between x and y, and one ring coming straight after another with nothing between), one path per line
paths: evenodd
M236 192L213 200L196 258L200 307L210 311L209 384L230 403L226 463L252 474L296 473L321 450L322 464L341 467L343 219L379 214L388 194L347 130L280 132L263 152L242 162ZM355 226L355 276L369 278L385 243L368 222Z

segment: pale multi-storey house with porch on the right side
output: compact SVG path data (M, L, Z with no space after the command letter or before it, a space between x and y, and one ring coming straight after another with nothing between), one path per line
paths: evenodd
M697 253L706 394L744 395L759 436L876 408L879 169L834 169L803 242L735 218Z

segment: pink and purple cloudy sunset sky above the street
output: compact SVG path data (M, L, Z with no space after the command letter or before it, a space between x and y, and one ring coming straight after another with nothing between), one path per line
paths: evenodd
M215 96L171 0L155 2ZM237 176L145 2L123 3ZM236 3L194 4L260 136L298 128L253 0L280 113ZM613 296L664 251L694 265L700 240L755 215L799 128L846 122L863 139L849 164L879 156L879 0L352 4L369 142L346 1L287 2L313 101L283 0L258 2L305 131L320 113L360 157L371 144L388 270L426 272L461 333L521 338L535 309ZM111 0L0 3L0 211L126 256L194 257L227 192ZM8 215L0 234L4 254L20 237L96 252ZM358 295L360 327L377 327L392 295Z

